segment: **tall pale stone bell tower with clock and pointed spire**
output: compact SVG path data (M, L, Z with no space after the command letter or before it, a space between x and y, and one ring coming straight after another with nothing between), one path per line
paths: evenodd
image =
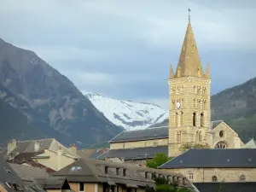
M189 9L190 11L190 9ZM190 15L177 69L171 65L169 77L168 155L182 153L184 143L210 143L210 67L204 73L195 44ZM211 144L210 144L211 146Z

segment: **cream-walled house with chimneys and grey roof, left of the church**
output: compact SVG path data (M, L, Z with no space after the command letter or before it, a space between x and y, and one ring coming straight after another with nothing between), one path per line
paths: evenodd
M58 171L79 159L76 148L66 148L54 138L32 141L17 141L8 143L7 155L9 162L21 162L26 166L43 165ZM30 161L30 162L29 162ZM33 164L32 161L37 162Z

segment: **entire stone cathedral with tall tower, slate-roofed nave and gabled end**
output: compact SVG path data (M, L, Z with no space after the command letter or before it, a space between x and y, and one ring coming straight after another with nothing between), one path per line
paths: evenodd
M236 131L224 120L211 121L211 80L209 65L205 71L201 65L189 19L177 69L170 69L168 125L123 131L109 141L109 150L97 159L145 165L155 154L183 154L186 144L244 148Z

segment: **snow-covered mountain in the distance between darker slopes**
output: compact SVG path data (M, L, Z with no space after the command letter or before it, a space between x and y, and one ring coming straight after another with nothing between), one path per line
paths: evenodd
M106 118L125 130L145 129L168 118L168 111L152 103L121 101L96 93L85 94Z

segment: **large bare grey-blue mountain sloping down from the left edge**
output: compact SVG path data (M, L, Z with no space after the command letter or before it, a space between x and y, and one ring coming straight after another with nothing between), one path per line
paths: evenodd
M44 132L48 137L59 137L62 143L88 147L92 143L108 141L123 130L113 125L67 77L38 55L1 38L0 84L14 98L12 103L3 98L2 102L26 116L28 124L39 130L35 133L38 137ZM8 110L4 113L12 116ZM15 128L7 123L5 129L11 136ZM28 134L25 127L20 130Z

